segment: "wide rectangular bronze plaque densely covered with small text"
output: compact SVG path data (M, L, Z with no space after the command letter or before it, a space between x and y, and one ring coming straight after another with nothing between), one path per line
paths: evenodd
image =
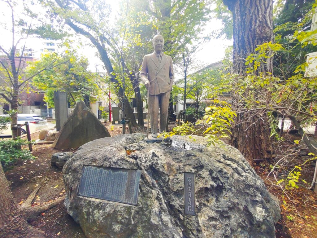
M84 165L78 195L137 205L140 170Z

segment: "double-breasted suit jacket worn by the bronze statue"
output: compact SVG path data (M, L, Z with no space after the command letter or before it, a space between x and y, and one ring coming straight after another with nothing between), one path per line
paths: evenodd
M147 79L151 85L149 90L150 95L159 95L169 92L174 80L171 56L163 54L161 63L159 63L154 52L144 56L141 67L142 83L145 83Z

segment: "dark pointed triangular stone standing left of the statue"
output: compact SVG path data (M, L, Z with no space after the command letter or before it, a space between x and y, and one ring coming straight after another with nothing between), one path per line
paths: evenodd
M78 148L89 141L103 137L110 137L107 128L83 101L79 101L59 131L53 147L57 149Z

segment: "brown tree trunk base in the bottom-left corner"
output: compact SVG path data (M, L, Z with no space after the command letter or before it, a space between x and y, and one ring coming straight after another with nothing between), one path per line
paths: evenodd
M22 210L14 201L0 163L0 237L1 238L44 238L23 217Z

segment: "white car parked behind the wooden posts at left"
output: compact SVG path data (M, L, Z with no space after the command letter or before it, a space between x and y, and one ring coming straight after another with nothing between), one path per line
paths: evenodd
M8 115L0 115L0 116L8 116ZM25 122L29 122L30 133L49 127L47 120L44 119L41 115L18 114L18 124L24 124ZM1 131L0 134L11 135L11 123L8 123L7 129ZM25 126L21 127L21 135L24 135L24 134L26 134Z

